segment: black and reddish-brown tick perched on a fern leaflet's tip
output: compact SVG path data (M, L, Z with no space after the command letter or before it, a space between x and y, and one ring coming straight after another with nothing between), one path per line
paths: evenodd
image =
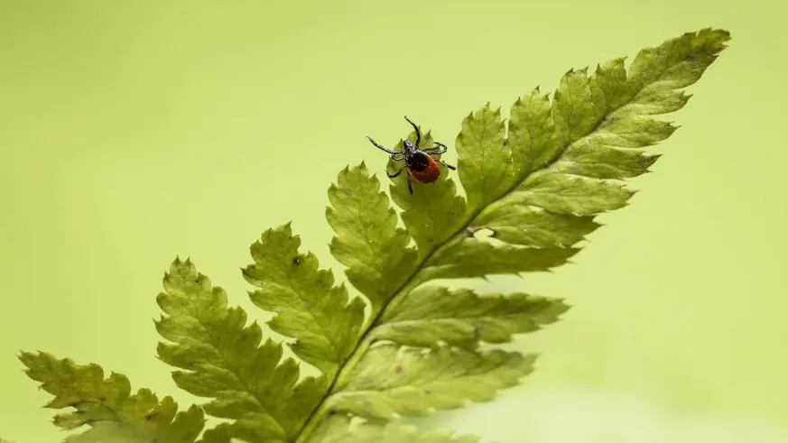
M440 165L438 163L446 166L451 171L455 171L457 168L446 162L443 162L440 159L432 157L433 155L439 155L443 152L446 152L448 148L445 144L435 142L435 145L431 148L422 149L419 146L419 143L422 143L422 132L419 131L419 126L414 124L407 116L405 116L405 120L407 120L416 131L416 144L413 145L413 143L404 140L403 151L393 151L391 149L386 149L375 142L375 140L373 140L369 135L367 135L366 138L369 139L369 142L374 144L377 149L390 153L394 162L403 162L403 166L399 171L394 173L385 171L385 175L387 175L389 179L394 179L394 177L403 173L405 168L407 168L408 190L410 190L411 194L413 194L411 178L418 181L419 183L432 183L433 181L438 180L440 177Z

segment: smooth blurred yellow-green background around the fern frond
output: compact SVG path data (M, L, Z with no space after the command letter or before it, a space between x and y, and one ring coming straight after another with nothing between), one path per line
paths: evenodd
M786 16L781 0L0 0L0 435L63 436L20 349L191 401L154 358L162 273L190 256L253 309L238 267L292 220L341 277L326 189L347 164L383 172L365 134L394 143L407 114L452 147L487 101L506 113L567 69L707 26L733 41L668 117L682 127L633 205L576 264L488 286L575 305L515 344L544 353L524 401L589 388L788 427Z

